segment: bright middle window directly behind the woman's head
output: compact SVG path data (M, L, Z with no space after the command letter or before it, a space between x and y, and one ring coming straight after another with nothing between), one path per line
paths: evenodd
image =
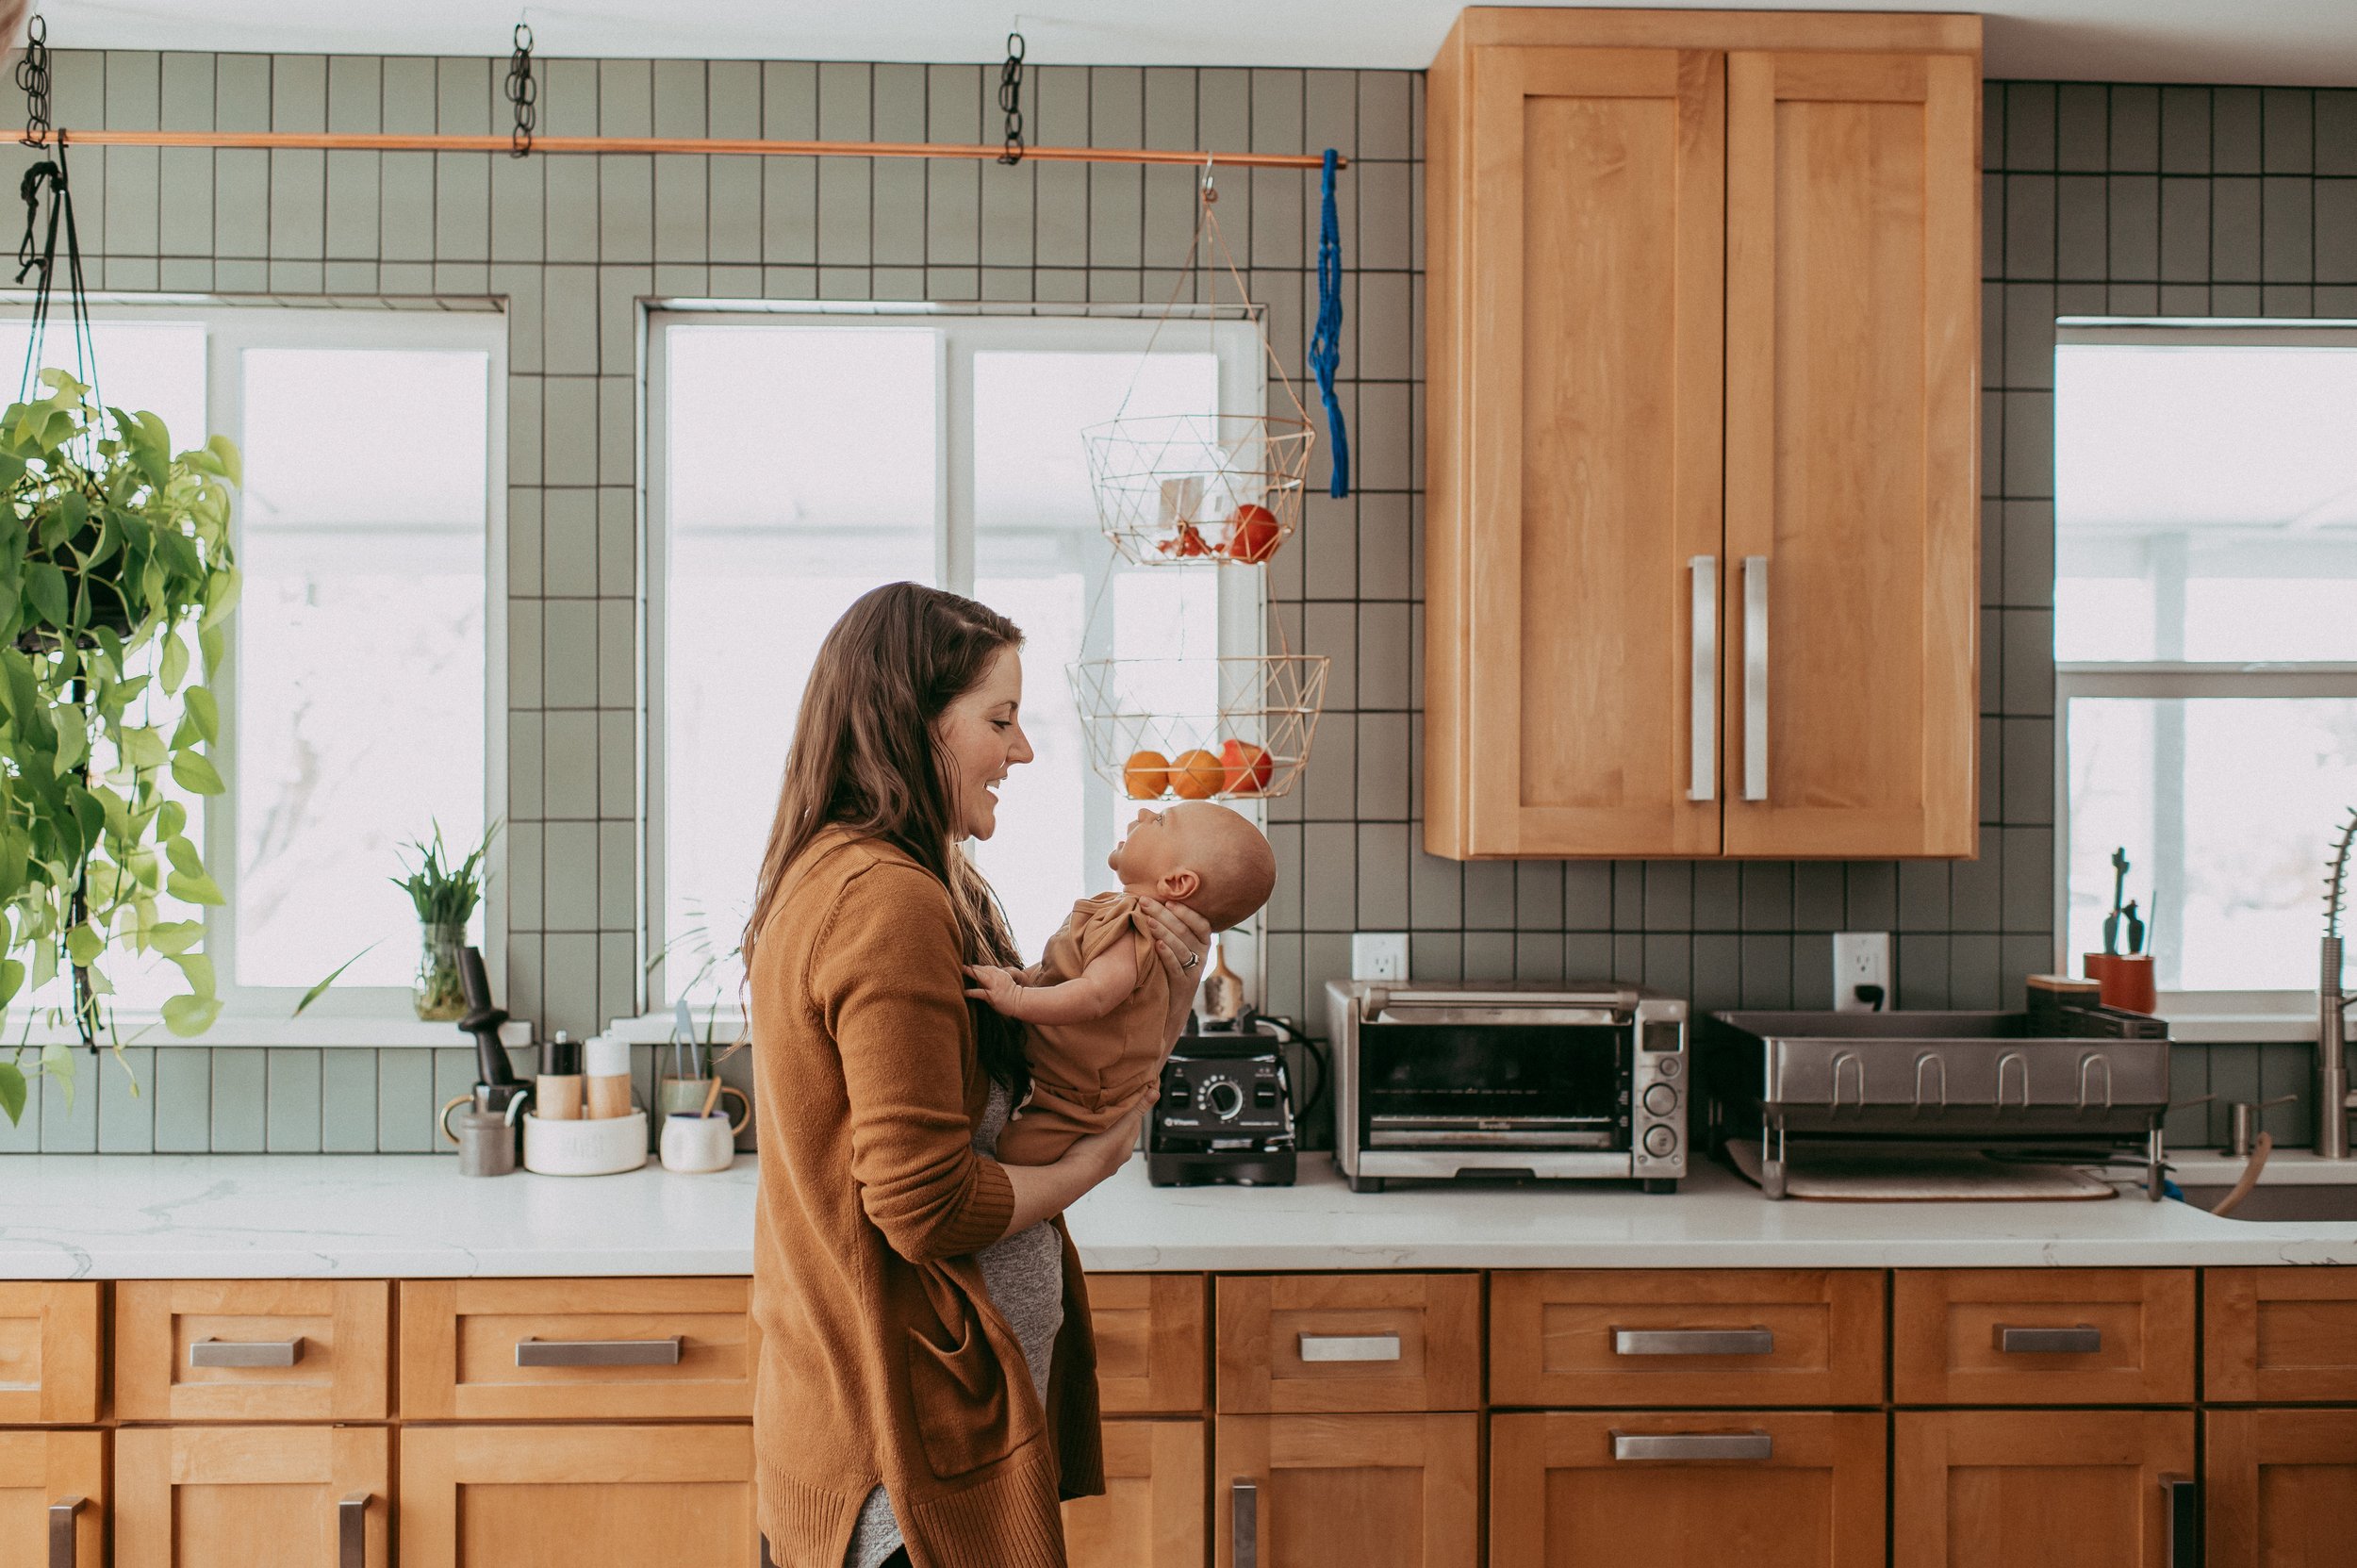
M1110 887L1127 823L1089 769L1065 665L1200 655L1211 684L1216 653L1259 651L1263 615L1261 573L1120 566L1080 431L1124 398L1131 415L1256 413L1259 337L1242 323L1157 337L1143 321L665 311L651 344L651 1002L733 1004L726 955L811 660L853 599L903 578L973 594L1025 632L1037 762L973 849L1037 955L1075 898Z

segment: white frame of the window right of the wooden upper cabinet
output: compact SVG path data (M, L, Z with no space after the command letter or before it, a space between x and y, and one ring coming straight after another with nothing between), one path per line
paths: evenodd
M2065 316L2055 323L2055 344L2352 347L2357 344L2357 323ZM2079 955L2069 950L2069 707L2074 698L2357 698L2357 663L2055 663L2055 974L2074 974L2079 964ZM2322 865L2317 870L2322 877ZM2152 903L2159 905L2159 898ZM2322 922L2317 934L2322 936ZM2171 1035L2178 1040L2315 1040L2315 990L2159 993L2159 1012L2171 1021Z

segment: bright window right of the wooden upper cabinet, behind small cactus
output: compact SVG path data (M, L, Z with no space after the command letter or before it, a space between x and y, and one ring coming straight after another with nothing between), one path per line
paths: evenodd
M2062 960L2112 851L2164 993L2315 988L2357 804L2357 328L2062 323Z

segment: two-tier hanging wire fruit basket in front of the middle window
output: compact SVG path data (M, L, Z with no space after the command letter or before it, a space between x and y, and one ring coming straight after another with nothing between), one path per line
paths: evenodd
M1247 321L1252 297L1219 233L1219 191L1204 167L1183 292L1197 266L1209 276L1219 321L1219 276L1235 285ZM1171 325L1178 292L1155 323ZM1285 363L1259 332L1273 368L1273 415L1124 410L1082 431L1096 516L1113 549L1136 566L1247 566L1270 556L1301 526L1310 465L1310 417ZM1153 340L1148 340L1148 354ZM1098 658L1070 665L1072 703L1089 740L1089 766L1131 799L1252 799L1287 795L1301 780L1325 707L1327 660L1294 653L1277 627L1277 651L1219 658ZM1207 670L1211 667L1211 679Z

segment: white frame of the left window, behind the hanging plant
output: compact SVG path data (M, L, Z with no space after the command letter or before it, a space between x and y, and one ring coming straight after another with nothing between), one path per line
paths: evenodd
M0 297L0 314L26 318L24 295ZM457 304L457 302L453 302ZM495 823L507 804L507 309L495 299L469 299L471 309L387 309L361 304L283 304L193 297L158 302L139 295L94 295L94 321L139 321L205 328L205 431L172 431L174 446L193 446L219 434L245 446L245 396L240 356L245 349L474 349L486 361L486 465L483 465L483 821ZM49 335L71 323L52 311ZM104 396L104 365L99 394ZM231 516L240 528L245 498L233 493ZM219 974L222 1016L196 1037L179 1037L144 1009L115 1009L113 1028L130 1045L351 1045L351 1047L455 1047L464 1037L450 1023L420 1023L408 986L332 986L299 1019L299 986L236 983L236 877L238 877L238 637L231 620L229 653L214 674L222 738L212 747L224 795L205 802L205 870L226 903L205 910L205 953ZM507 835L493 842L483 889L483 964L493 995L507 983ZM387 865L384 875L396 875ZM408 934L389 934L389 943ZM325 976L321 976L325 979ZM19 1004L21 1007L21 1004ZM21 1023L19 1023L21 1028ZM71 1028L33 1023L31 1040L73 1040ZM137 1037L137 1040L134 1040Z

